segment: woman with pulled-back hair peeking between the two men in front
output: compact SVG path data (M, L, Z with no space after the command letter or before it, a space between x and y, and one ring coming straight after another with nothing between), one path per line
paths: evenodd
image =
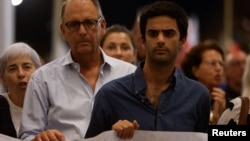
M107 28L100 45L107 55L135 64L134 38L125 26L114 24Z

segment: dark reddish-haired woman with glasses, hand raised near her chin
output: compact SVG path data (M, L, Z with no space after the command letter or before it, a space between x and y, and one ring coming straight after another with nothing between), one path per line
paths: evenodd
M206 40L192 47L181 64L184 74L201 82L210 91L211 119L216 124L226 108L226 93L219 86L224 74L224 52L214 40Z

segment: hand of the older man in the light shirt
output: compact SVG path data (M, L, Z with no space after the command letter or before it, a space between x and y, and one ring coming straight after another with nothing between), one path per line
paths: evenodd
M66 141L64 135L57 130L46 130L36 135L32 141Z

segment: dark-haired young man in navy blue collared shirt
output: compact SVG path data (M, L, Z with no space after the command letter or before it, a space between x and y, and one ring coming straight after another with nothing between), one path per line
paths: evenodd
M132 138L136 129L207 133L209 91L175 66L187 27L186 12L173 2L156 1L142 9L145 61L135 73L99 90L86 138L111 129L122 139Z

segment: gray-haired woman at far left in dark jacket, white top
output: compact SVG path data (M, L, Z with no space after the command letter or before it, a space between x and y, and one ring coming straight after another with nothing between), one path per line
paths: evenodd
M0 95L0 133L17 137L25 91L40 65L39 55L26 43L14 43L1 54L0 80L7 91Z

